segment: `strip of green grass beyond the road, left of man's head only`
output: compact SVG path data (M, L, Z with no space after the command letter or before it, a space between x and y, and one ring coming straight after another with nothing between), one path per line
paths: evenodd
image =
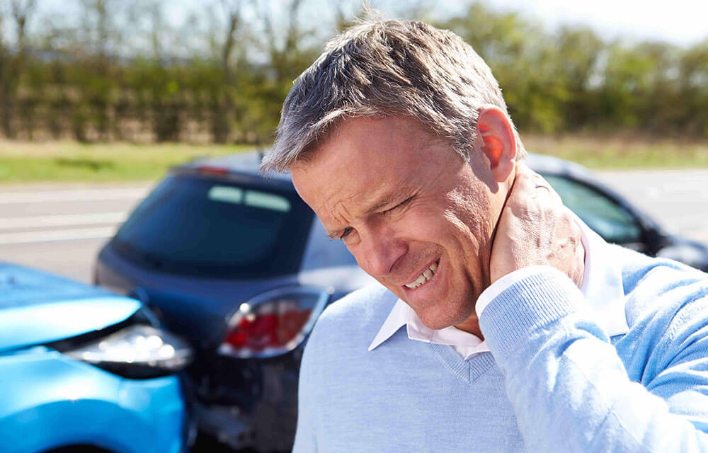
M197 156L253 149L234 145L0 142L0 183L154 180Z

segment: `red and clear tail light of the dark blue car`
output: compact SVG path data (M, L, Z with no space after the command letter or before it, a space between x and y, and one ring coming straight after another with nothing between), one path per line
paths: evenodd
M329 294L314 287L285 287L258 294L232 316L219 352L273 357L295 349L312 330Z

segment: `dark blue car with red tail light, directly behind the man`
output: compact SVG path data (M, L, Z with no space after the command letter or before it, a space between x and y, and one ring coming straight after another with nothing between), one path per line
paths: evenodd
M202 432L234 448L289 451L304 340L326 304L373 280L326 238L290 176L258 175L260 157L171 171L103 248L95 282L141 299L191 340ZM705 246L665 234L583 167L528 163L607 241L708 268Z

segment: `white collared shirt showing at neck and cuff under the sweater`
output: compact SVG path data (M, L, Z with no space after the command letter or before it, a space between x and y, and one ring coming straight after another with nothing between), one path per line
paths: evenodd
M624 288L622 287L622 274L607 256L609 245L590 229L578 217L575 220L582 231L583 248L585 248L585 270L581 292L590 301L590 306L597 314L598 323L605 329L608 336L627 333L627 316L624 314ZM525 276L537 270L537 267L515 270L490 285L479 295L475 310L477 316L481 315L484 308L489 305L498 294L518 282ZM406 302L398 299L391 313L384 321L383 326L369 346L369 350L377 348L396 331L406 326L408 338L451 345L457 353L468 360L481 352L488 352L486 342L473 333L461 331L455 326L435 330L423 325L423 322Z

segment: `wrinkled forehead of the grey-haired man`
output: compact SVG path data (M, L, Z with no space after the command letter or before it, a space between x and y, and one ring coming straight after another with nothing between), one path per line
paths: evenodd
M410 118L353 118L332 132L312 159L292 167L292 180L325 222L338 207L356 211L396 191L430 184L442 161L461 161L441 146Z

